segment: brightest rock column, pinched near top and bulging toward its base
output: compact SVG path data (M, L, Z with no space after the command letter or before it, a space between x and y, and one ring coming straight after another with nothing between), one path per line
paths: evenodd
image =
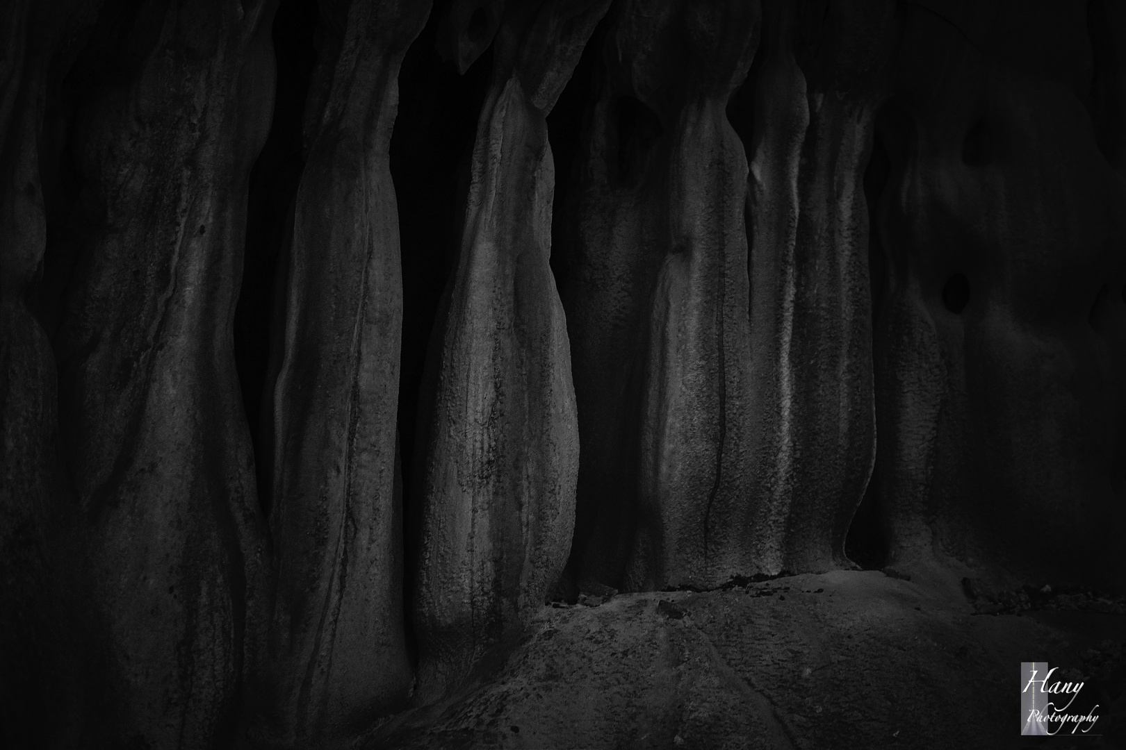
M543 605L570 549L579 441L548 266L555 174L544 117L607 4L511 3L493 42L461 256L422 389L420 701Z

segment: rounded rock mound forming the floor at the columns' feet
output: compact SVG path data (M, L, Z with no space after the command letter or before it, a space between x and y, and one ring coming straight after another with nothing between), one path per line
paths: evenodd
M1087 663L1093 690L1121 648L1117 615L983 616L946 590L834 571L545 609L475 684L365 747L1026 747L1019 662ZM1100 711L1106 747L1126 741L1123 697Z

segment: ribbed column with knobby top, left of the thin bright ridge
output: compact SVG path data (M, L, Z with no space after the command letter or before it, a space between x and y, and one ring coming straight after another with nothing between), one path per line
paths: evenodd
M685 2L662 19L668 26L646 29L644 19L660 18L651 6L629 7L624 37L637 48L645 31L672 34L682 46L663 47L671 57L663 75L631 71L670 137L663 255L643 333L637 532L625 585L709 588L757 572L757 550L747 543L747 157L726 106L758 47L760 13L756 2Z

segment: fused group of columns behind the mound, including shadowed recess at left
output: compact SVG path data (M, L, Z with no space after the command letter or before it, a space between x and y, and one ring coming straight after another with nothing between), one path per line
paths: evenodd
M749 191L724 108L757 8L614 16L566 225L580 579L843 562L875 455L861 182L895 29L891 3L821 10L766 3Z

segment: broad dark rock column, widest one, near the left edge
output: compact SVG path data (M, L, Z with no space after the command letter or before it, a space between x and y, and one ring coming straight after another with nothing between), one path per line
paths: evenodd
M236 721L262 530L231 318L269 126L272 10L107 12L74 66L95 74L73 148L102 209L55 337L78 494L66 575L91 644L82 747L205 747Z

